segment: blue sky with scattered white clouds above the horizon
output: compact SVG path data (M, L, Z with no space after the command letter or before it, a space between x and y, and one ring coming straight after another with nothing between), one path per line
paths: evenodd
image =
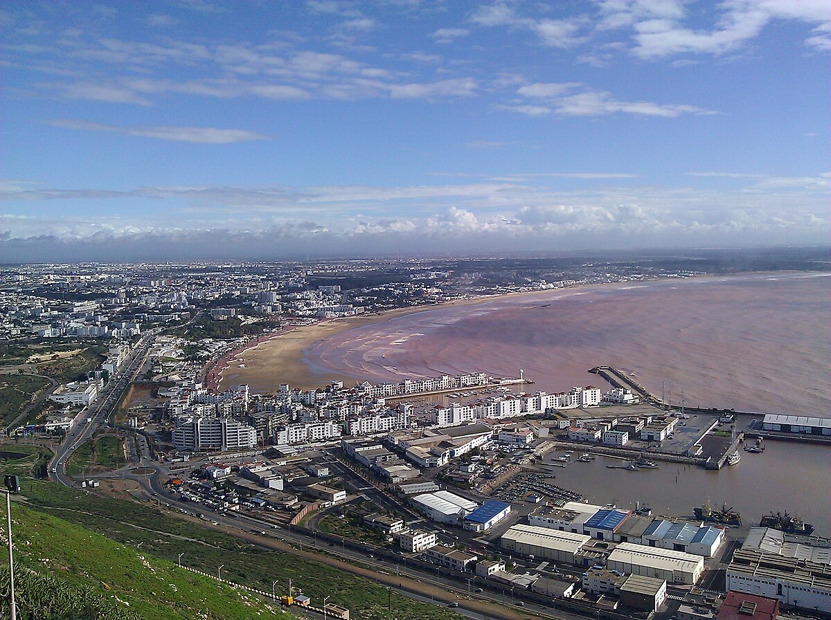
M831 0L12 0L0 29L0 261L831 238Z

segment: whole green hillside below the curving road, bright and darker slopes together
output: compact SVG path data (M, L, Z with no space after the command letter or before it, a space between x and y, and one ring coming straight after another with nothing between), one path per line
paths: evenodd
M9 448L11 450L11 447ZM15 447L23 452L22 447ZM32 448L32 452L36 452ZM91 588L120 609L142 618L271 618L281 615L268 598L238 592L214 579L176 566L215 574L270 592L288 578L294 593L312 603L324 596L349 608L355 620L453 620L453 610L419 603L378 585L295 554L263 549L233 535L183 520L151 505L113 500L75 491L28 475L37 455L14 460L0 456L3 473L22 476L21 496L12 504L17 559L40 574L52 574L67 586ZM0 519L5 510L0 508ZM2 549L0 549L2 556ZM17 563L16 563L17 564ZM2 559L0 559L2 566ZM2 583L0 583L2 588ZM129 606L124 601L130 603ZM283 618L287 616L283 615ZM0 619L2 607L0 607ZM107 618L106 615L23 616L22 618Z

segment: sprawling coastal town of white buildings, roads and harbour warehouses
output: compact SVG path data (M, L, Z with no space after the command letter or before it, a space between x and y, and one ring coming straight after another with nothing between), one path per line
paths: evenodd
M362 267L342 277L360 280ZM774 514L779 505L740 515L728 497L691 497L671 514L612 497L592 503L568 482L573 468L598 464L625 476L747 466L770 442L828 444L828 418L691 408L602 365L587 368L602 387L555 392L520 369L499 377L474 365L386 383L234 383L246 351L304 325L416 300L657 274L606 267L604 276L462 292L470 273L432 264L396 266L406 277L357 289L316 283L312 269L277 280L264 269L233 278L222 266L4 272L4 389L43 381L22 413L5 413L3 445L47 447L42 476L68 488L155 505L160 519L267 548L369 560L379 575L430 583L445 607L484 601L615 620L711 620L751 605L765 618L779 606L831 613L831 543L798 515ZM396 588L417 591L401 579ZM347 618L348 601L329 598L290 585L280 600Z

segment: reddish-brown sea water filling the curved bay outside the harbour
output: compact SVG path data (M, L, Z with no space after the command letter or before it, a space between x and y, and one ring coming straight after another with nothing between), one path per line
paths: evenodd
M588 286L441 306L306 351L370 381L484 371L534 390L593 383L607 364L692 407L831 417L831 277L777 273Z

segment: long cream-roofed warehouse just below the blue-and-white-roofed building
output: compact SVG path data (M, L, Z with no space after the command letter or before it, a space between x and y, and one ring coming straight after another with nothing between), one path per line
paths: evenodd
M673 549L621 543L609 554L606 566L621 573L666 579L668 583L692 585L704 572L704 557Z

